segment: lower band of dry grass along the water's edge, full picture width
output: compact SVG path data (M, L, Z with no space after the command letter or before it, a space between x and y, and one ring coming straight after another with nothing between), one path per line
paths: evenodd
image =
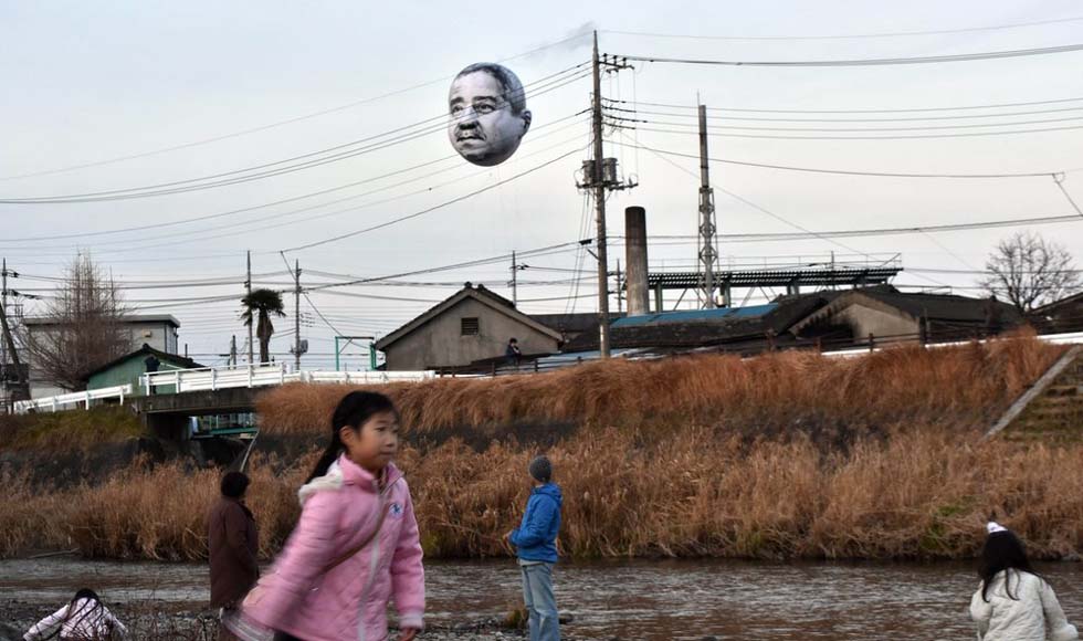
M529 492L533 449L451 441L400 462L431 557L508 554ZM1048 449L917 428L824 454L808 438L747 443L708 428L663 438L581 432L549 451L564 487L560 545L572 557L965 558L996 512L1037 556L1083 545L1083 446ZM250 504L262 555L297 515L312 458L256 461ZM97 487L0 498L0 554L78 547L86 556L206 558L213 472L132 470ZM46 538L35 537L44 533Z

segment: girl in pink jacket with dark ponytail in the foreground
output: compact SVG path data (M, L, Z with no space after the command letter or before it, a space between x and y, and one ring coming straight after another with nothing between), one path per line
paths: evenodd
M410 490L391 463L399 416L383 395L338 403L332 442L298 492L301 519L271 574L225 621L245 640L385 641L395 600L399 637L422 629L424 570Z

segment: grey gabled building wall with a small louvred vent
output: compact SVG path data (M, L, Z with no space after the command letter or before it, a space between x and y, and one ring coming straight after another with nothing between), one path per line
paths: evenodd
M462 319L479 319L477 336L462 335ZM557 340L473 298L465 298L412 334L389 346L387 369L416 371L459 367L504 356L507 340L518 338L523 354L554 354Z

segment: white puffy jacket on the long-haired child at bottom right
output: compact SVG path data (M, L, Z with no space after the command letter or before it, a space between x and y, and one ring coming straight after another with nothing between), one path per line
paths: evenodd
M1012 599L1005 587L1011 588ZM1030 572L999 572L989 586L988 599L981 586L970 599L970 618L978 624L981 641L1075 641L1075 627L1068 622L1053 588ZM1048 637L1047 637L1048 634Z

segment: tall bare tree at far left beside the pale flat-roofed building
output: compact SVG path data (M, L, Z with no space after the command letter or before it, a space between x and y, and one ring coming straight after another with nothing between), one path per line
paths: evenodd
M132 351L125 313L113 277L90 255L77 255L41 322L24 326L35 376L67 390L86 389L90 372Z

